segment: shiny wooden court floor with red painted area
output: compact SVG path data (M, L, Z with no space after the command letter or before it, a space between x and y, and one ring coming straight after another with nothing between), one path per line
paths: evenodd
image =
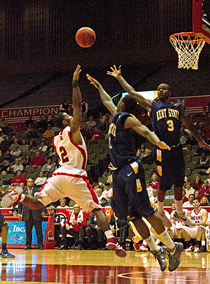
M1 258L1 284L206 284L210 283L210 253L182 253L173 272L160 271L150 253L127 251L9 250L16 258Z

